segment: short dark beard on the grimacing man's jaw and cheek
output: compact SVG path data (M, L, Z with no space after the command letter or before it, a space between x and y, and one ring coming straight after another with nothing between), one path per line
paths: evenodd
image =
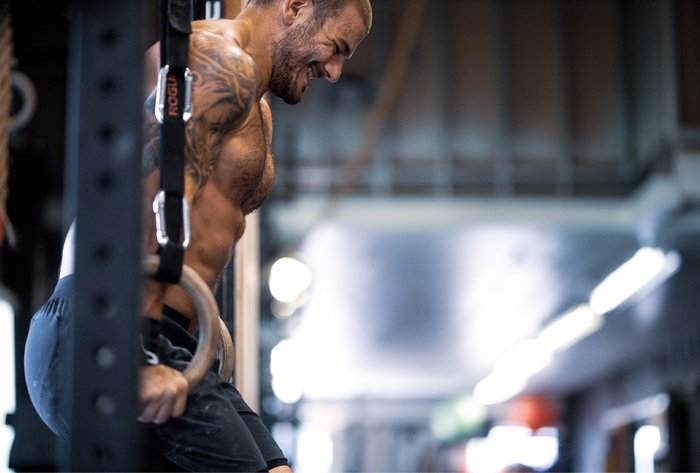
M320 25L315 20L293 26L275 43L272 50L272 74L270 92L288 104L299 103L304 90L297 78L300 71L306 71L313 51L305 51Z

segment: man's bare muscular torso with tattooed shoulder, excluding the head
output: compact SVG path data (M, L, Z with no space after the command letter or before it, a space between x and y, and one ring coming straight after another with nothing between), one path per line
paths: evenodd
M222 28L225 23L195 24L186 173L192 242L185 263L213 289L243 234L245 215L260 206L272 186L272 117L264 99L250 96L254 84L246 81L254 66ZM166 303L193 312L177 288L168 291Z

